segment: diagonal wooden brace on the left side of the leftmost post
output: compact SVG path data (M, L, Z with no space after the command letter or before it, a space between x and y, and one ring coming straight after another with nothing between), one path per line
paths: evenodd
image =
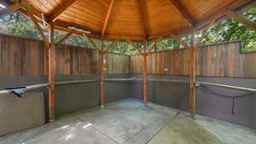
M26 12L27 12L28 16L30 17L30 19L32 20L32 23L38 30L39 35L42 37L45 47L48 47L49 46L48 39L47 39L47 37L44 36L43 29L41 28L41 26L39 26L38 20L33 15L32 10L30 8L28 8L28 9L26 9Z

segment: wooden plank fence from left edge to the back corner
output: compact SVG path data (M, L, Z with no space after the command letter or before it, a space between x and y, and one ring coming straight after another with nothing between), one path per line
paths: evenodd
M44 75L44 43L20 37L0 35L0 75ZM98 72L99 55L95 49L57 45L56 75L92 74ZM129 55L108 53L107 73L128 73Z

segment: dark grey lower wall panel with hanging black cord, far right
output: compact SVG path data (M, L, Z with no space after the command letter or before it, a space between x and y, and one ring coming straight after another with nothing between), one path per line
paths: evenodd
M229 84L246 88L256 89L255 78L204 78L198 77L200 82L209 82L214 84ZM246 91L236 89L224 89L209 87L218 93L225 95L243 95ZM197 113L218 118L233 124L241 124L256 129L255 112L256 112L256 95L237 98L235 101L235 114L232 115L232 99L224 98L218 95L207 94L201 89L196 90Z

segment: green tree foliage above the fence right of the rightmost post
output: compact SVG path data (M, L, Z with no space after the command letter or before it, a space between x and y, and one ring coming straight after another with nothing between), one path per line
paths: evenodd
M242 15L248 20L256 22L256 8L248 9ZM256 50L256 32L241 22L229 19L213 26L203 39L203 44L220 43L226 41L241 40L242 51Z

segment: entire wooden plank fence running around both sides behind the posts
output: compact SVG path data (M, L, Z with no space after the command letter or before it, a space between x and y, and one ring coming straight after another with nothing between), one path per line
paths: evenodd
M256 78L256 53L241 53L240 42L219 43L197 51L196 74L210 77ZM56 75L97 73L94 49L56 46ZM44 43L0 35L0 75L44 75ZM107 73L142 73L142 55L105 56ZM189 75L189 50L176 49L148 55L148 74Z

